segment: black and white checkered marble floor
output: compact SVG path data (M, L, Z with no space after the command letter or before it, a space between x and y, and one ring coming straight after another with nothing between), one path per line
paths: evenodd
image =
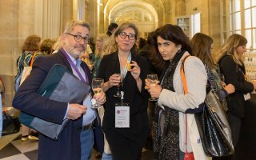
M0 160L37 160L38 159L38 141L27 140L22 142L22 134L10 134L2 136L0 139ZM91 160L99 160L95 158L95 151ZM142 150L142 160L153 159L152 150Z

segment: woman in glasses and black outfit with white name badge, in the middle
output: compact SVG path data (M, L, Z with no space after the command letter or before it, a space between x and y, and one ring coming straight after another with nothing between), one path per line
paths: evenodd
M144 89L147 74L147 62L145 58L137 55L135 42L138 38L138 29L133 23L123 23L115 30L109 39L111 50L114 53L105 55L98 69L97 78L104 79L106 92L105 114L102 129L109 142L113 158L116 160L141 159L142 146L149 134L148 117L146 114L148 94ZM130 68L131 66L131 68ZM120 73L118 75L117 73ZM127 126L121 126L118 117L120 98L117 94L118 85L121 84L124 93L123 102L126 107L125 121ZM128 109L127 109L128 108ZM123 110L125 107L123 107ZM124 124L121 122L121 124ZM102 155L102 158L104 157Z

